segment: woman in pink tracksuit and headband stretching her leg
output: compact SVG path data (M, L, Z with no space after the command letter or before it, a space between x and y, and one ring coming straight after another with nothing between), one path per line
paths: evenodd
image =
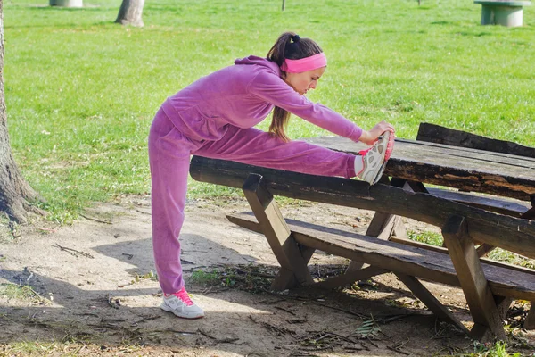
M149 160L152 244L164 293L162 310L186 319L204 316L185 291L178 240L191 154L315 175L358 176L372 185L380 179L394 129L382 121L363 130L324 105L310 102L304 95L317 87L326 64L314 41L286 32L268 58L236 60L161 105L149 135ZM272 111L268 133L253 128ZM353 155L291 141L284 133L291 112L336 135L374 146Z

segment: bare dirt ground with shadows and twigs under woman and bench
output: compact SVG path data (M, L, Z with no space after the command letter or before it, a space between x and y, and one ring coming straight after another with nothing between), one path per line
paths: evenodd
M0 356L433 356L481 348L439 323L392 274L336 291L269 292L277 264L266 239L226 220L226 213L245 211L242 200L187 205L182 260L186 286L206 312L200 320L177 319L159 307L148 197L94 207L70 227L37 221L21 227L20 237L4 237ZM303 203L282 211L361 233L373 214ZM310 270L325 277L348 263L316 253ZM193 271L206 274L192 278ZM8 294L15 285L31 289L26 296ZM462 291L424 285L470 326ZM518 328L529 304L514 306L508 345L533 355L535 333Z

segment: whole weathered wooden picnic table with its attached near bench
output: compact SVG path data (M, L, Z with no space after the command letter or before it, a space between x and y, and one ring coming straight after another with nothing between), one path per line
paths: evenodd
M363 148L342 137L306 140L348 153ZM228 218L267 237L281 264L275 289L313 284L307 264L319 249L351 260L344 276L317 283L320 286L341 286L391 271L437 316L467 331L417 278L460 286L473 315L471 334L481 340L505 338L501 321L513 299L535 302L535 270L482 257L500 247L535 259L535 158L397 138L383 178L373 187L358 179L197 156L190 173L200 181L243 188L256 220L246 215ZM274 195L376 213L365 236L287 223ZM447 248L405 239L400 216L441 228ZM370 266L363 268L364 263ZM530 328L535 326L534 315L531 303L526 320Z

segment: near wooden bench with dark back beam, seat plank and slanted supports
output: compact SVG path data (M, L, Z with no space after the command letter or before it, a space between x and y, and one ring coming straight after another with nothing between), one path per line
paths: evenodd
M281 266L272 286L276 290L314 284L343 286L392 271L430 311L468 332L418 278L461 286L474 321L470 334L482 341L506 337L501 321L513 299L535 301L535 270L480 259L473 244L476 240L534 258L535 224L530 220L400 187L370 187L360 180L270 170L199 156L193 156L190 173L199 181L243 188L255 218L232 215L229 220L267 237ZM449 254L444 249L440 252L440 247L430 250L378 239L390 237L390 233L384 232L393 229L393 220L376 220L381 224L374 227L372 223L366 235L302 222L288 224L273 200L274 195L395 214L432 224L441 228ZM369 266L357 269L358 264L353 264L353 269L344 275L315 283L307 266L315 250ZM530 313L530 319L532 316Z

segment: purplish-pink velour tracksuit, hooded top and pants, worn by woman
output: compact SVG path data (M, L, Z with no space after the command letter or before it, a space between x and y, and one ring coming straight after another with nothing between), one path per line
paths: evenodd
M152 245L164 293L184 286L178 237L184 222L190 155L322 176L355 176L355 156L304 141L285 143L252 128L274 105L354 141L362 129L322 104L310 102L280 78L268 59L249 56L170 96L149 135Z

